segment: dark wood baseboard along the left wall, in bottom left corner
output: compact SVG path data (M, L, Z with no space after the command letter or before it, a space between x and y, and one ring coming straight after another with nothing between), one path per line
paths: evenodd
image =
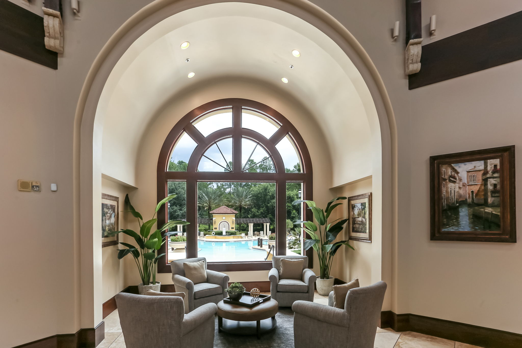
M80 329L75 333L56 334L13 348L94 348L105 338L105 322L96 328Z

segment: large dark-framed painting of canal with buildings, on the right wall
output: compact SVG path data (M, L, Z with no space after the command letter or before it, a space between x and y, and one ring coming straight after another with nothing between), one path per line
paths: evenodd
M431 240L516 243L515 146L430 157Z

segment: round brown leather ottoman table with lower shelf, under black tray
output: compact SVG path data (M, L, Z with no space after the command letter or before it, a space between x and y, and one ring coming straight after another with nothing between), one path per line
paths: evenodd
M218 331L240 335L257 335L274 330L279 304L275 299L248 308L220 301L218 303Z

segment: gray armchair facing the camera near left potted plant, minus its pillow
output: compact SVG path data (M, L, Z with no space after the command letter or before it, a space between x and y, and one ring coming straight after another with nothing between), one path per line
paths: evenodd
M201 260L205 260L207 282L194 284L185 277L183 262L197 262ZM185 293L186 313L206 303L218 303L226 296L225 289L228 287L229 276L224 273L208 270L206 258L196 257L193 259L175 260L170 263L170 268L172 269L172 281L174 282L176 292Z

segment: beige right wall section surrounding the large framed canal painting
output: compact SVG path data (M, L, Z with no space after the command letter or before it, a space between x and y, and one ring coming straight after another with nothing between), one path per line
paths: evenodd
M404 313L522 333L517 310L522 306L520 238L517 244L430 242L428 199L430 155L505 145L518 151L522 146L520 74L522 61L517 61L410 91L411 112L417 117L411 124L414 190L409 217L403 215L411 221L411 230L404 231L411 296ZM519 182L518 156L516 161ZM520 185L516 195L521 197ZM517 220L521 218L518 211Z

